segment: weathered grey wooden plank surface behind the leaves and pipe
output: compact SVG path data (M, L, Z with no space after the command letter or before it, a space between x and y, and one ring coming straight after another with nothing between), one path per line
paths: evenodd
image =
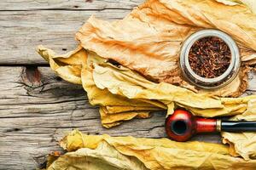
M0 2L0 169L44 167L47 154L61 150L65 132L165 137L165 113L119 127L101 126L98 108L84 90L56 77L36 52L44 44L65 53L76 47L74 33L91 14L119 20L143 0L5 0ZM256 90L250 75L247 94ZM253 86L254 84L254 86ZM196 139L219 142L219 136Z

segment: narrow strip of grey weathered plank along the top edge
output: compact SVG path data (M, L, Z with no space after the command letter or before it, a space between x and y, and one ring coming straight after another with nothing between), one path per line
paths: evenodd
M41 9L131 9L143 0L5 0L0 2L0 10L41 10Z

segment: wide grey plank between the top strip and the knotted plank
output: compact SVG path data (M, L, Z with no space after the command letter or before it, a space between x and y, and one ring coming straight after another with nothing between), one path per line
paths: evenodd
M35 52L39 44L58 53L76 48L74 34L94 14L118 20L129 10L102 11L0 11L0 65L46 64Z

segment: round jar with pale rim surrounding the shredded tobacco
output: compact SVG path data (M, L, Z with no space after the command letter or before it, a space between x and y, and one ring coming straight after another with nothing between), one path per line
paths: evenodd
M199 39L203 37L219 37L228 45L231 52L231 59L230 65L228 69L219 77L214 78L205 78L200 77L199 75L195 74L195 72L191 69L189 65L189 51L192 45ZM226 33L223 31L218 30L201 30L196 31L190 37L183 42L183 47L180 53L180 67L183 72L183 77L185 77L190 83L195 85L199 88L205 89L214 89L214 88L222 88L225 85L229 84L234 80L237 76L241 60L240 60L240 53L239 48L236 45L236 42Z

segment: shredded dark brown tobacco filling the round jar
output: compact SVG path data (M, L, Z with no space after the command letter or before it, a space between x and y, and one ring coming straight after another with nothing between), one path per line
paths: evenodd
M189 51L189 65L200 77L221 76L230 65L231 52L219 37L203 37Z

